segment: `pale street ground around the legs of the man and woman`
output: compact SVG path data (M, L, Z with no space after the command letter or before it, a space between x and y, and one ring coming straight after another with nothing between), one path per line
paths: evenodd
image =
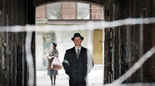
M59 75L56 79L55 86L69 86L69 78L65 74L64 69L58 71ZM103 66L95 65L88 75L88 86L103 86ZM37 70L37 86L52 86L50 77L47 76L46 68Z

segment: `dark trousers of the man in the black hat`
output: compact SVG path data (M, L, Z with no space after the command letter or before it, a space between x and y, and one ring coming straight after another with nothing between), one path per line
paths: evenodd
M86 80L74 80L69 78L69 86L86 86Z

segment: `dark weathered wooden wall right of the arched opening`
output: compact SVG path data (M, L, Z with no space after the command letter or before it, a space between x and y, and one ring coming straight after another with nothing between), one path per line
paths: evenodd
M105 20L155 17L154 0L109 0ZM126 25L105 29L104 83L113 82L155 45L154 25ZM154 44L153 44L154 43ZM124 83L155 82L155 56Z

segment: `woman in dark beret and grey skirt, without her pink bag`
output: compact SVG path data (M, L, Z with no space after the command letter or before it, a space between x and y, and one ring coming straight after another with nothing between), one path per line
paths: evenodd
M52 63L53 59L55 58L55 56L58 57L58 50L56 49L56 46L57 46L57 44L55 42L52 42L51 48L49 49L48 54L47 54L47 59L48 59L47 75L50 76L52 85L53 84L55 85L56 75L58 75L57 70L52 70L51 69L51 63ZM54 78L54 83L53 83L52 78Z

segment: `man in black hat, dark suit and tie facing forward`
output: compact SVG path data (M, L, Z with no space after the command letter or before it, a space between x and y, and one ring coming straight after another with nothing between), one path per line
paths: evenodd
M75 33L71 39L75 47L66 50L63 67L70 78L70 86L86 86L87 73L94 66L92 55L88 49L81 46L84 38L79 33Z

